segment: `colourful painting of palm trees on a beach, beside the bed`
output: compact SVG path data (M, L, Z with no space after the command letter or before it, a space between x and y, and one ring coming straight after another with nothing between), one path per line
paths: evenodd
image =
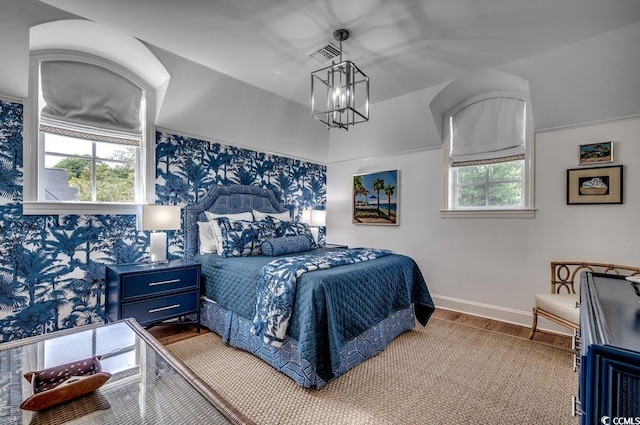
M354 175L352 222L398 225L398 177L398 170Z

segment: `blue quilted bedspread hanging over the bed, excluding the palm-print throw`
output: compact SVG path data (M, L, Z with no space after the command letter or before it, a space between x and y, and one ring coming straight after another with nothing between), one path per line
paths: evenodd
M205 295L251 320L261 269L274 257L206 254L195 259L202 263ZM412 303L416 318L426 325L433 301L418 265L404 255L305 273L298 279L287 334L317 374L329 381L347 341Z

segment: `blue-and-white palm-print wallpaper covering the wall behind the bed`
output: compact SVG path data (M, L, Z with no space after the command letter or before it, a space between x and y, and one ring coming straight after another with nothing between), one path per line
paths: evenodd
M104 265L148 257L134 215L23 215L22 137L23 106L0 100L0 342L102 321ZM297 215L325 206L322 165L169 133L156 142L157 203L240 183L273 189ZM169 244L181 256L182 232Z

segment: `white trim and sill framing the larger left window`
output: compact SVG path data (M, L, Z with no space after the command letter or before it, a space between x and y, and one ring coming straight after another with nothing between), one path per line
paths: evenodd
M142 127L140 158L136 168L136 192L139 194L136 203L44 202L39 200L38 189L42 187L39 181L43 178L40 170L44 167L44 155L39 155L42 146L38 141L38 69L40 61L46 60L72 60L101 66L127 78L143 90L146 99L146 120ZM23 139L23 214L136 214L138 204L155 203L155 106L155 90L138 75L117 63L79 51L40 50L31 52L29 60L29 98L25 103Z

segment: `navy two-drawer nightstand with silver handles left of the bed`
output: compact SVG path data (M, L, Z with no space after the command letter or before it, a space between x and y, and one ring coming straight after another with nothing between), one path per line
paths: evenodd
M107 266L106 305L109 321L135 318L143 326L194 313L200 332L200 263L184 259L165 264ZM179 321L172 323L188 323Z

